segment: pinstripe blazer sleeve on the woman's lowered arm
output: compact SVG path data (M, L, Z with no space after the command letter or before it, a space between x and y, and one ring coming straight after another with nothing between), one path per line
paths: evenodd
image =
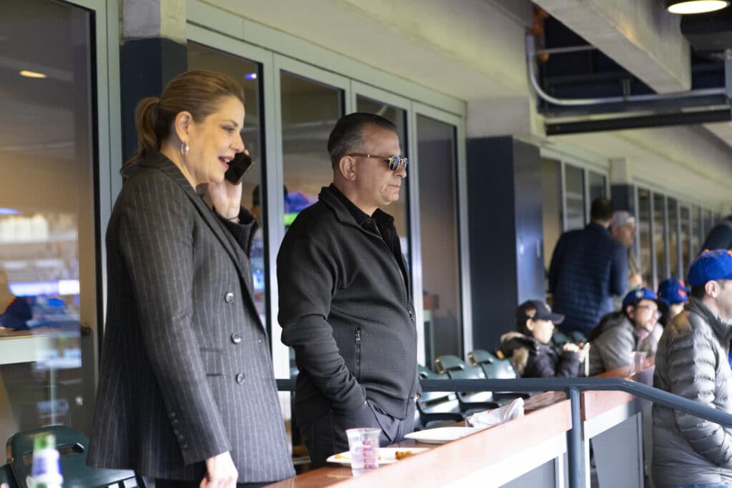
M146 356L186 464L231 450L192 328L193 205L166 179L127 194L119 247L135 287Z

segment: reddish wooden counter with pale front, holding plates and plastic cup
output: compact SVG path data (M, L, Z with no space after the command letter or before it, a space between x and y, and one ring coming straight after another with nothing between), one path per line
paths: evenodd
M561 392L536 395L525 402L526 415L482 430L466 438L435 445L405 440L397 447L426 447L429 451L392 465L351 475L346 466L327 467L269 485L280 488L386 487L415 484L420 488L474 486L498 487L542 465L560 459L567 451L567 431L572 427L569 400ZM561 469L560 469L561 471Z

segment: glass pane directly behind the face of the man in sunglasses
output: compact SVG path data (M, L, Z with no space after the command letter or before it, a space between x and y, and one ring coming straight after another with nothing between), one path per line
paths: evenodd
M399 144L402 149L402 154L404 156L409 155L409 148L407 144L408 141L406 110L393 107L392 105L387 105L383 102L371 100L370 98L362 97L361 95L359 95L358 97L356 97L356 111L365 113L376 113L377 115L384 117L384 119L391 121L395 126L397 126L397 135L399 135ZM394 217L394 225L397 228L397 233L399 233L399 238L402 244L402 252L404 253L406 262L409 263L411 266L409 260L410 247L408 239L409 185L404 184L402 188L403 190L399 195L399 200L397 200L395 203L392 203L391 205L389 205L388 208L383 210L389 213L392 217Z

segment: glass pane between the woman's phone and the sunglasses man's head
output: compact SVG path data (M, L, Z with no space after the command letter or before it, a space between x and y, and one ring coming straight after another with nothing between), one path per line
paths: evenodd
M343 91L280 72L285 226L333 181L328 136L343 116Z

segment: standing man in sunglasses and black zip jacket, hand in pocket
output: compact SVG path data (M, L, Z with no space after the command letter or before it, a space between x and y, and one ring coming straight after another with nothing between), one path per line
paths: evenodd
M396 127L351 113L331 132L333 183L300 212L277 256L282 341L299 368L295 418L311 465L348 450L346 429L381 445L414 427L417 329L393 219L407 159Z

